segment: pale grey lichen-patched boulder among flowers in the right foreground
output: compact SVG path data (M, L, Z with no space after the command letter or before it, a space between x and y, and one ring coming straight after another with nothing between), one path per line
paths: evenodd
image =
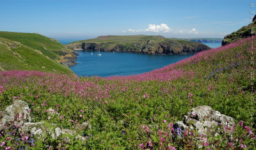
M178 121L173 124L175 130L198 130L201 135L210 134L216 135L215 126L223 124L225 126L233 126L234 118L220 114L220 112L211 109L209 106L200 106L191 109L187 116L184 116L183 121Z

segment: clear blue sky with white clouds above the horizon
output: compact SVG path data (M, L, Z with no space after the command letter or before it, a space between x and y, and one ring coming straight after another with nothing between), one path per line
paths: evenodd
M0 31L58 40L134 34L223 38L250 24L250 11L256 13L256 0L0 0Z

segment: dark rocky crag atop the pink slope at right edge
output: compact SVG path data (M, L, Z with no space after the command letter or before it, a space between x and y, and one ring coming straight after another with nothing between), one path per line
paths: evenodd
M224 37L221 45L228 45L229 43L232 43L237 40L241 40L243 38L246 38L248 36L253 36L256 34L256 15L253 17L252 23L248 26L243 26L241 29L237 30L234 33L228 34Z

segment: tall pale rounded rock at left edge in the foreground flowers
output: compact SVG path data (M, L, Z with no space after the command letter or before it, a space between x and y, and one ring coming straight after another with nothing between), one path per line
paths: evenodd
M4 110L4 117L1 119L0 130L10 128L11 126L22 126L31 121L28 103L16 100L13 105Z

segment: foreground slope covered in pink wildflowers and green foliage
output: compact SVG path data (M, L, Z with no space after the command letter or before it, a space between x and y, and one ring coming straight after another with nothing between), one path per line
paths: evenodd
M256 39L256 37L253 37ZM253 41L253 42L252 42ZM250 64L256 40L246 38L218 49L205 50L159 70L127 77L70 77L40 71L1 71L0 109L14 100L29 103L33 122L46 121L60 128L74 129L89 123L77 134L86 141L63 144L61 137L40 139L29 133L1 131L1 147L76 149L239 149L255 144L255 94L251 89ZM253 46L253 48L252 48ZM254 64L256 63L253 59ZM252 92L252 93L251 93ZM173 123L193 107L209 105L236 119L233 140L185 131L184 139L173 141ZM58 112L49 119L47 109ZM253 114L250 116L250 114ZM3 115L3 113L2 113ZM252 120L254 119L254 121ZM253 123L253 124L252 124ZM56 128L55 126L55 128ZM204 141L196 140L202 137ZM22 139L23 138L23 139ZM22 139L22 140L20 140ZM253 140L251 140L253 139ZM33 142L31 142L33 141ZM61 144L59 144L61 143ZM251 147L252 148L252 147Z

